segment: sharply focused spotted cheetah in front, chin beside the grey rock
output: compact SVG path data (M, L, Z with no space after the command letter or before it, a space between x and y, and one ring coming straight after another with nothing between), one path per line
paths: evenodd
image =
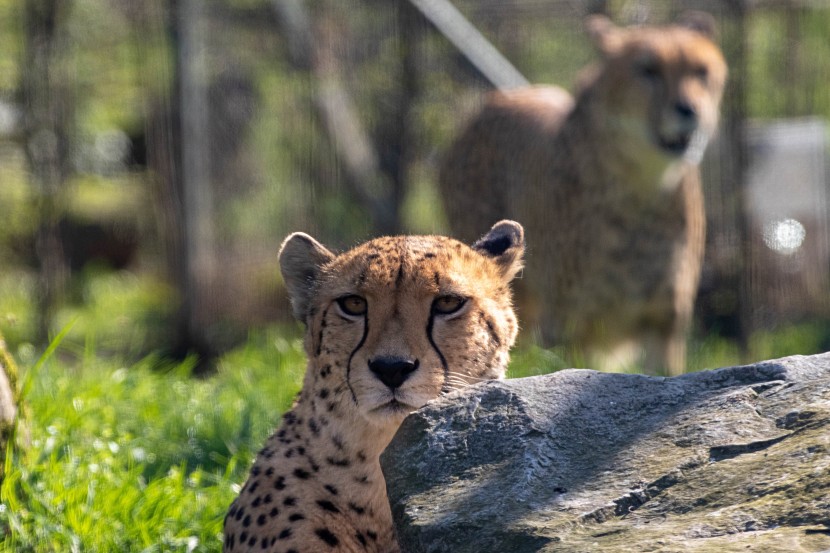
M397 236L335 255L307 234L285 240L308 365L227 513L225 552L398 551L380 454L427 401L504 376L524 248L513 221L472 246Z

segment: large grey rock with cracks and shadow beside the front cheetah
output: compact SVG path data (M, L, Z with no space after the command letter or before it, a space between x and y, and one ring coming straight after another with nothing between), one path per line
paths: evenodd
M381 461L406 553L830 551L830 354L489 382Z

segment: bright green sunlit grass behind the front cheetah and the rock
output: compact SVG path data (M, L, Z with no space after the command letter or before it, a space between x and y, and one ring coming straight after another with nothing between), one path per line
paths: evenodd
M228 505L299 390L298 330L252 334L216 375L198 379L190 361L123 362L109 337L99 349L91 336L101 334L83 336L88 324L67 328L46 363L25 363L33 367L21 375L28 417L18 442L26 446L7 459L0 550L219 551ZM759 334L751 360L827 349L825 328ZM711 338L691 352L698 369L741 360ZM523 344L509 376L567 366L561 352Z

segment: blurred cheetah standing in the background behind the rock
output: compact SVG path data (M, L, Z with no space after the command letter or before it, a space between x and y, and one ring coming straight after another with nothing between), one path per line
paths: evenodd
M594 368L678 374L705 241L698 163L726 63L705 14L586 27L602 59L575 98L555 86L493 93L445 156L444 205L461 239L523 221L533 246L519 307L541 343Z

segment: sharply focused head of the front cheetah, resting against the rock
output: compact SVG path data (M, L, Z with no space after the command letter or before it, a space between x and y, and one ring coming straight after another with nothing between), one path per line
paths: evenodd
M398 236L341 255L290 236L280 265L307 327L306 386L326 409L398 425L442 392L502 377L517 333L509 282L523 251L512 221L473 246Z

